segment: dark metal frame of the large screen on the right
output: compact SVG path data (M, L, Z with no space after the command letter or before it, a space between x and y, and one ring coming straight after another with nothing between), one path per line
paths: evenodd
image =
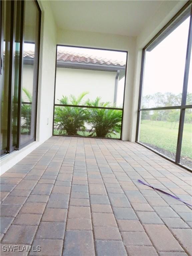
M190 7L191 6L191 7ZM153 107L153 108L141 108L141 100L142 100L142 89L143 89L143 78L144 78L144 68L145 68L145 56L146 49L152 45L155 41L158 40L158 37L162 35L162 33L172 25L177 18L187 10L190 9L190 22L189 22L189 30L188 30L188 39L187 39L187 50L186 50L186 58L185 58L185 71L184 71L184 79L183 79L183 89L182 89L182 99L181 105L179 106L169 106L169 107ZM161 42L161 41L160 41ZM159 42L159 43L160 43ZM183 137L183 127L184 127L184 118L185 118L185 109L192 108L192 105L186 105L187 98L187 87L188 87L188 78L189 78L189 67L190 67L190 56L192 54L192 1L188 1L177 14L150 40L150 42L143 48L142 50L142 61L141 61L141 74L140 74L140 88L139 88L139 101L138 101L138 113L137 113L137 128L136 128L136 143L148 148L149 150L157 153L158 155L164 157L165 159L170 160L171 162L189 170L192 172L190 168L185 165L180 164L181 157L181 147L182 147L182 137ZM191 63L192 65L192 63ZM166 157L160 152L153 150L152 148L146 146L142 142L138 141L139 137L139 129L140 129L140 117L141 111L146 110L166 110L166 109L180 109L180 118L179 118L179 128L178 128L178 137L177 137L177 148L176 148L176 157L175 160Z

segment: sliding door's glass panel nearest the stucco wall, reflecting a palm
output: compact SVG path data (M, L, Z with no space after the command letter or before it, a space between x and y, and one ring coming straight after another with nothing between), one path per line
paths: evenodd
M35 140L39 10L35 1L25 2L20 144Z

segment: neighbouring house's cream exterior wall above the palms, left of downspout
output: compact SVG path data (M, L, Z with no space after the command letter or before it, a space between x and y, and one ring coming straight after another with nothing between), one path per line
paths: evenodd
M116 72L57 68L55 103L62 98L62 95L79 96L82 92L89 92L84 97L94 100L97 96L102 101L114 101Z

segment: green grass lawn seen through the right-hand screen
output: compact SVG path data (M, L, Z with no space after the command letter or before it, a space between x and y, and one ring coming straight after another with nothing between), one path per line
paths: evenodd
M140 142L176 153L179 124L174 126L170 122L142 120ZM181 156L192 158L192 124L184 124Z

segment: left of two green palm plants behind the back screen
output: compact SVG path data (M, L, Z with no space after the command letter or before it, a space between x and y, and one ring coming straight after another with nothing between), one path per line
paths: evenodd
M77 98L74 95L63 96L59 100L63 105L82 105L82 100L88 92L81 93ZM88 111L81 107L56 106L55 107L55 127L59 134L79 135L78 131L85 131L84 123L88 119Z

